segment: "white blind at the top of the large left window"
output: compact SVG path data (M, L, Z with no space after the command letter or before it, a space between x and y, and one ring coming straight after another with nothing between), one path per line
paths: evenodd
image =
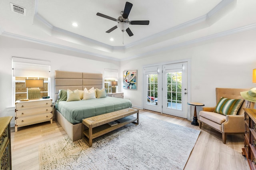
M12 57L13 77L50 77L50 61Z

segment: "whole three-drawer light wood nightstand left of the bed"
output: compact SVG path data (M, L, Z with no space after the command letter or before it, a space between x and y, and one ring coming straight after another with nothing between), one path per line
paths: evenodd
M52 123L52 99L15 102L15 132L18 127L46 121Z

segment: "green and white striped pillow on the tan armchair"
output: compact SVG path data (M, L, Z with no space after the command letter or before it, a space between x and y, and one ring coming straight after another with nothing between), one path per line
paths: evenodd
M227 99L221 97L214 112L222 115L236 115L243 102L243 99Z

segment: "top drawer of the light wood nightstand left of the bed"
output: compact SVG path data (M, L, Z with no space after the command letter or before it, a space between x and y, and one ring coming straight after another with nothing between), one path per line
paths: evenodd
M20 109L31 109L35 107L45 107L45 106L52 106L52 101L51 100L46 100L46 101L35 101L35 102L20 102L16 103L15 109L20 110Z

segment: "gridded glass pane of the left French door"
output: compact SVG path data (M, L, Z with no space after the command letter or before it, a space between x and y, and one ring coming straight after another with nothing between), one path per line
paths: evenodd
M157 105L158 75L147 75L147 105Z

